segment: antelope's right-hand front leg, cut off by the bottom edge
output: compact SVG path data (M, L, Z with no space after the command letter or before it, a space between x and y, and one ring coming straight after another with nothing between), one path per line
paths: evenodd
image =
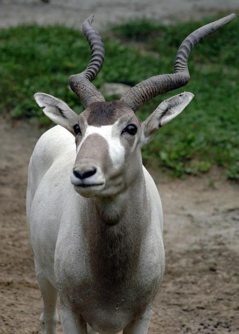
M152 305L137 315L124 329L123 334L147 334L152 314Z

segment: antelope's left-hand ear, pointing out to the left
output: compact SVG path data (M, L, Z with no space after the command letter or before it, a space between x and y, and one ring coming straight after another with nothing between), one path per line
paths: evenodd
M78 115L65 102L45 93L35 93L34 99L39 107L45 107L47 117L75 135L73 127L78 124Z

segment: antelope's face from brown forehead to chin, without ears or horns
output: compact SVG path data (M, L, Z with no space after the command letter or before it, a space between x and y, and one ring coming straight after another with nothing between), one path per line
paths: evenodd
M126 103L91 104L75 125L77 157L71 182L76 191L111 196L128 186L140 165L140 134L141 122Z

